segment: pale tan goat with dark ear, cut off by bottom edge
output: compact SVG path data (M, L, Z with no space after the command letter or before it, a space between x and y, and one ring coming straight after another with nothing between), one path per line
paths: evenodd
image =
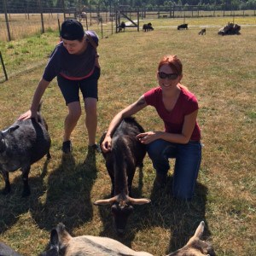
M153 256L146 252L136 252L119 241L101 236L71 236L64 224L51 230L49 249L40 256Z

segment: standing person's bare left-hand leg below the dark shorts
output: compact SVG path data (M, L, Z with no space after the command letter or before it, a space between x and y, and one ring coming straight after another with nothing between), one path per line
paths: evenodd
M71 102L67 104L68 114L64 123L64 136L63 142L70 140L71 133L74 127L77 125L81 116L80 102Z

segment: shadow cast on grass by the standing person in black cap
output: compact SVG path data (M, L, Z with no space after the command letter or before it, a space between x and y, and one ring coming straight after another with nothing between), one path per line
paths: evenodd
M88 152L84 163L76 165L73 155L62 155L61 165L48 178L45 201L32 209L40 229L51 230L60 222L67 230L92 219L90 191L96 180L96 155Z

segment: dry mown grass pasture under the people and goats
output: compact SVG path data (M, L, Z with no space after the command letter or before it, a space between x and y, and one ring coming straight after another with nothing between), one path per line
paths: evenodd
M209 23L203 20L201 25ZM160 25L154 21L153 26ZM0 195L0 241L23 255L38 255L47 246L49 231L63 222L73 236L108 236L135 250L165 255L182 247L204 220L205 239L212 242L217 255L255 255L256 27L242 26L239 36L219 36L212 26L207 27L206 36L198 32L197 26L187 31L128 30L102 39L98 50L102 76L97 140L115 113L157 85L156 69L162 55L176 54L183 61L182 82L199 100L204 144L193 200L172 199L173 167L166 188L155 189L154 169L146 156L132 189L134 197L148 197L152 202L135 207L125 236L117 236L110 207L93 205L110 195L110 179L102 155L87 154L84 117L73 131L73 155L61 154L66 110L54 80L44 94L42 108L52 138L52 159L32 166L29 198L20 198L20 172L10 174L13 191ZM56 39L49 38L50 44ZM43 52L44 46L39 49ZM29 56L25 63L32 62ZM43 71L44 66L34 68L0 84L1 129L30 107ZM147 131L163 130L153 108L144 109L136 118ZM0 189L3 186L0 177Z

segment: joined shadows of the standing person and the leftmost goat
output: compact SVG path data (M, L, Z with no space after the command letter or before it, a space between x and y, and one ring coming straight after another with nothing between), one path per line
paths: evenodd
M12 193L0 195L0 234L14 225L20 215L30 212L40 229L51 230L60 222L68 230L92 218L90 190L96 180L96 155L88 152L83 163L76 165L73 155L62 155L61 165L49 173L45 162L39 177L30 177L31 195L21 198L23 183L16 177Z

